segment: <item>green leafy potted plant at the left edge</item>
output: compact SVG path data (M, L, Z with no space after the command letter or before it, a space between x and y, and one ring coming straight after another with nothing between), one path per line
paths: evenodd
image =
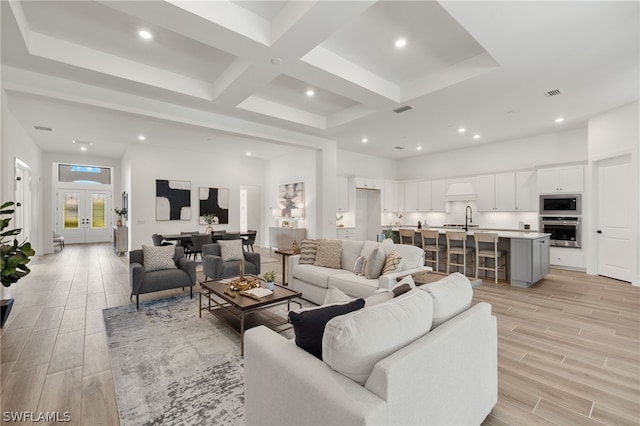
M18 282L31 272L27 263L31 260L29 258L36 254L29 241L20 243L17 238L12 238L22 232L21 228L5 230L9 227L11 217L4 216L13 214L14 210L10 208L13 205L13 201L8 201L0 206L0 276L5 287ZM13 299L0 300L0 327L4 326L12 306Z

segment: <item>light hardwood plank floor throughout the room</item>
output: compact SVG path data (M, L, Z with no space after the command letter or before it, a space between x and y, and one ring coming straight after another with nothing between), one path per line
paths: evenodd
M271 261L263 270L280 270L259 251ZM0 329L0 412L118 424L102 309L130 303L128 282L127 258L109 244L67 245L32 262L9 289L15 306ZM486 280L474 289L479 301L498 318L499 397L484 424L640 424L640 288L552 270L529 289Z

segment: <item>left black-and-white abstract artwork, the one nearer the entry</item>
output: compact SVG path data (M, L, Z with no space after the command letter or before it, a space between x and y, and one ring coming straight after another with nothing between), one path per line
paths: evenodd
M191 182L156 179L156 220L191 220Z

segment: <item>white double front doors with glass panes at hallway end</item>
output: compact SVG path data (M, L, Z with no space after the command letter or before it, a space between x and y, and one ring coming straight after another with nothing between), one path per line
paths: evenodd
M111 191L59 189L57 229L65 243L111 240Z

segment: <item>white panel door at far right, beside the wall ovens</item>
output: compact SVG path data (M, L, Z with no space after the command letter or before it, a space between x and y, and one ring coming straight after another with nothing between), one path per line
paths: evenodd
M596 167L598 275L631 282L636 256L631 238L636 201L631 194L637 188L631 156L603 160Z

